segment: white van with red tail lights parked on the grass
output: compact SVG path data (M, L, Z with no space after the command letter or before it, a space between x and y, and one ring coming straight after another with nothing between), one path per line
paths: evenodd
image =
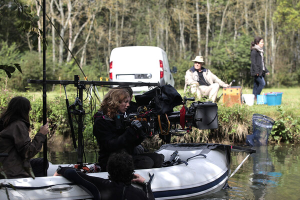
M118 82L159 82L174 86L167 55L156 46L124 46L112 49L109 59L109 80ZM133 93L148 91L148 86L132 87Z

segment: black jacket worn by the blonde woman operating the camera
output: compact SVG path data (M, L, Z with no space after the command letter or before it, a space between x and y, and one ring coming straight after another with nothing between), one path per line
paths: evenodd
M134 147L143 141L131 127L117 129L115 120L98 111L94 115L93 135L99 145L98 163L101 171L106 171L106 164L110 153L126 151L133 154Z

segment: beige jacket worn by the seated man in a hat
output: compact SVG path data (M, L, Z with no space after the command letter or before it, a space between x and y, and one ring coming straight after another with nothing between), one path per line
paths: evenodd
M202 67L202 70L203 70L203 77L205 81L208 83L208 85L211 85L213 83L218 83L222 87L223 84L225 84L225 82L223 82L216 75L214 75L209 69ZM184 78L185 78L185 84L188 85L196 84L198 82L199 76L194 66L186 70Z

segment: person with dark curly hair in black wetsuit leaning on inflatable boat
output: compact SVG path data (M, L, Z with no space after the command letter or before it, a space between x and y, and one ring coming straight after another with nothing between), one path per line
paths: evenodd
M73 167L58 168L54 175L63 175L88 189L95 200L153 200L154 196L149 182L134 174L132 157L125 152L113 153L107 163L108 179L86 175ZM131 182L142 184L143 189L131 185Z

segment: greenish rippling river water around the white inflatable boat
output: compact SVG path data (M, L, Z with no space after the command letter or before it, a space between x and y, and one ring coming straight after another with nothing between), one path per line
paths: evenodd
M228 180L229 188L198 199L296 199L300 192L300 145L268 145L253 147L256 153L244 162ZM86 161L94 162L94 151L86 151ZM40 154L39 156L42 156ZM231 153L231 171L246 153ZM76 152L49 152L53 164L76 163Z

